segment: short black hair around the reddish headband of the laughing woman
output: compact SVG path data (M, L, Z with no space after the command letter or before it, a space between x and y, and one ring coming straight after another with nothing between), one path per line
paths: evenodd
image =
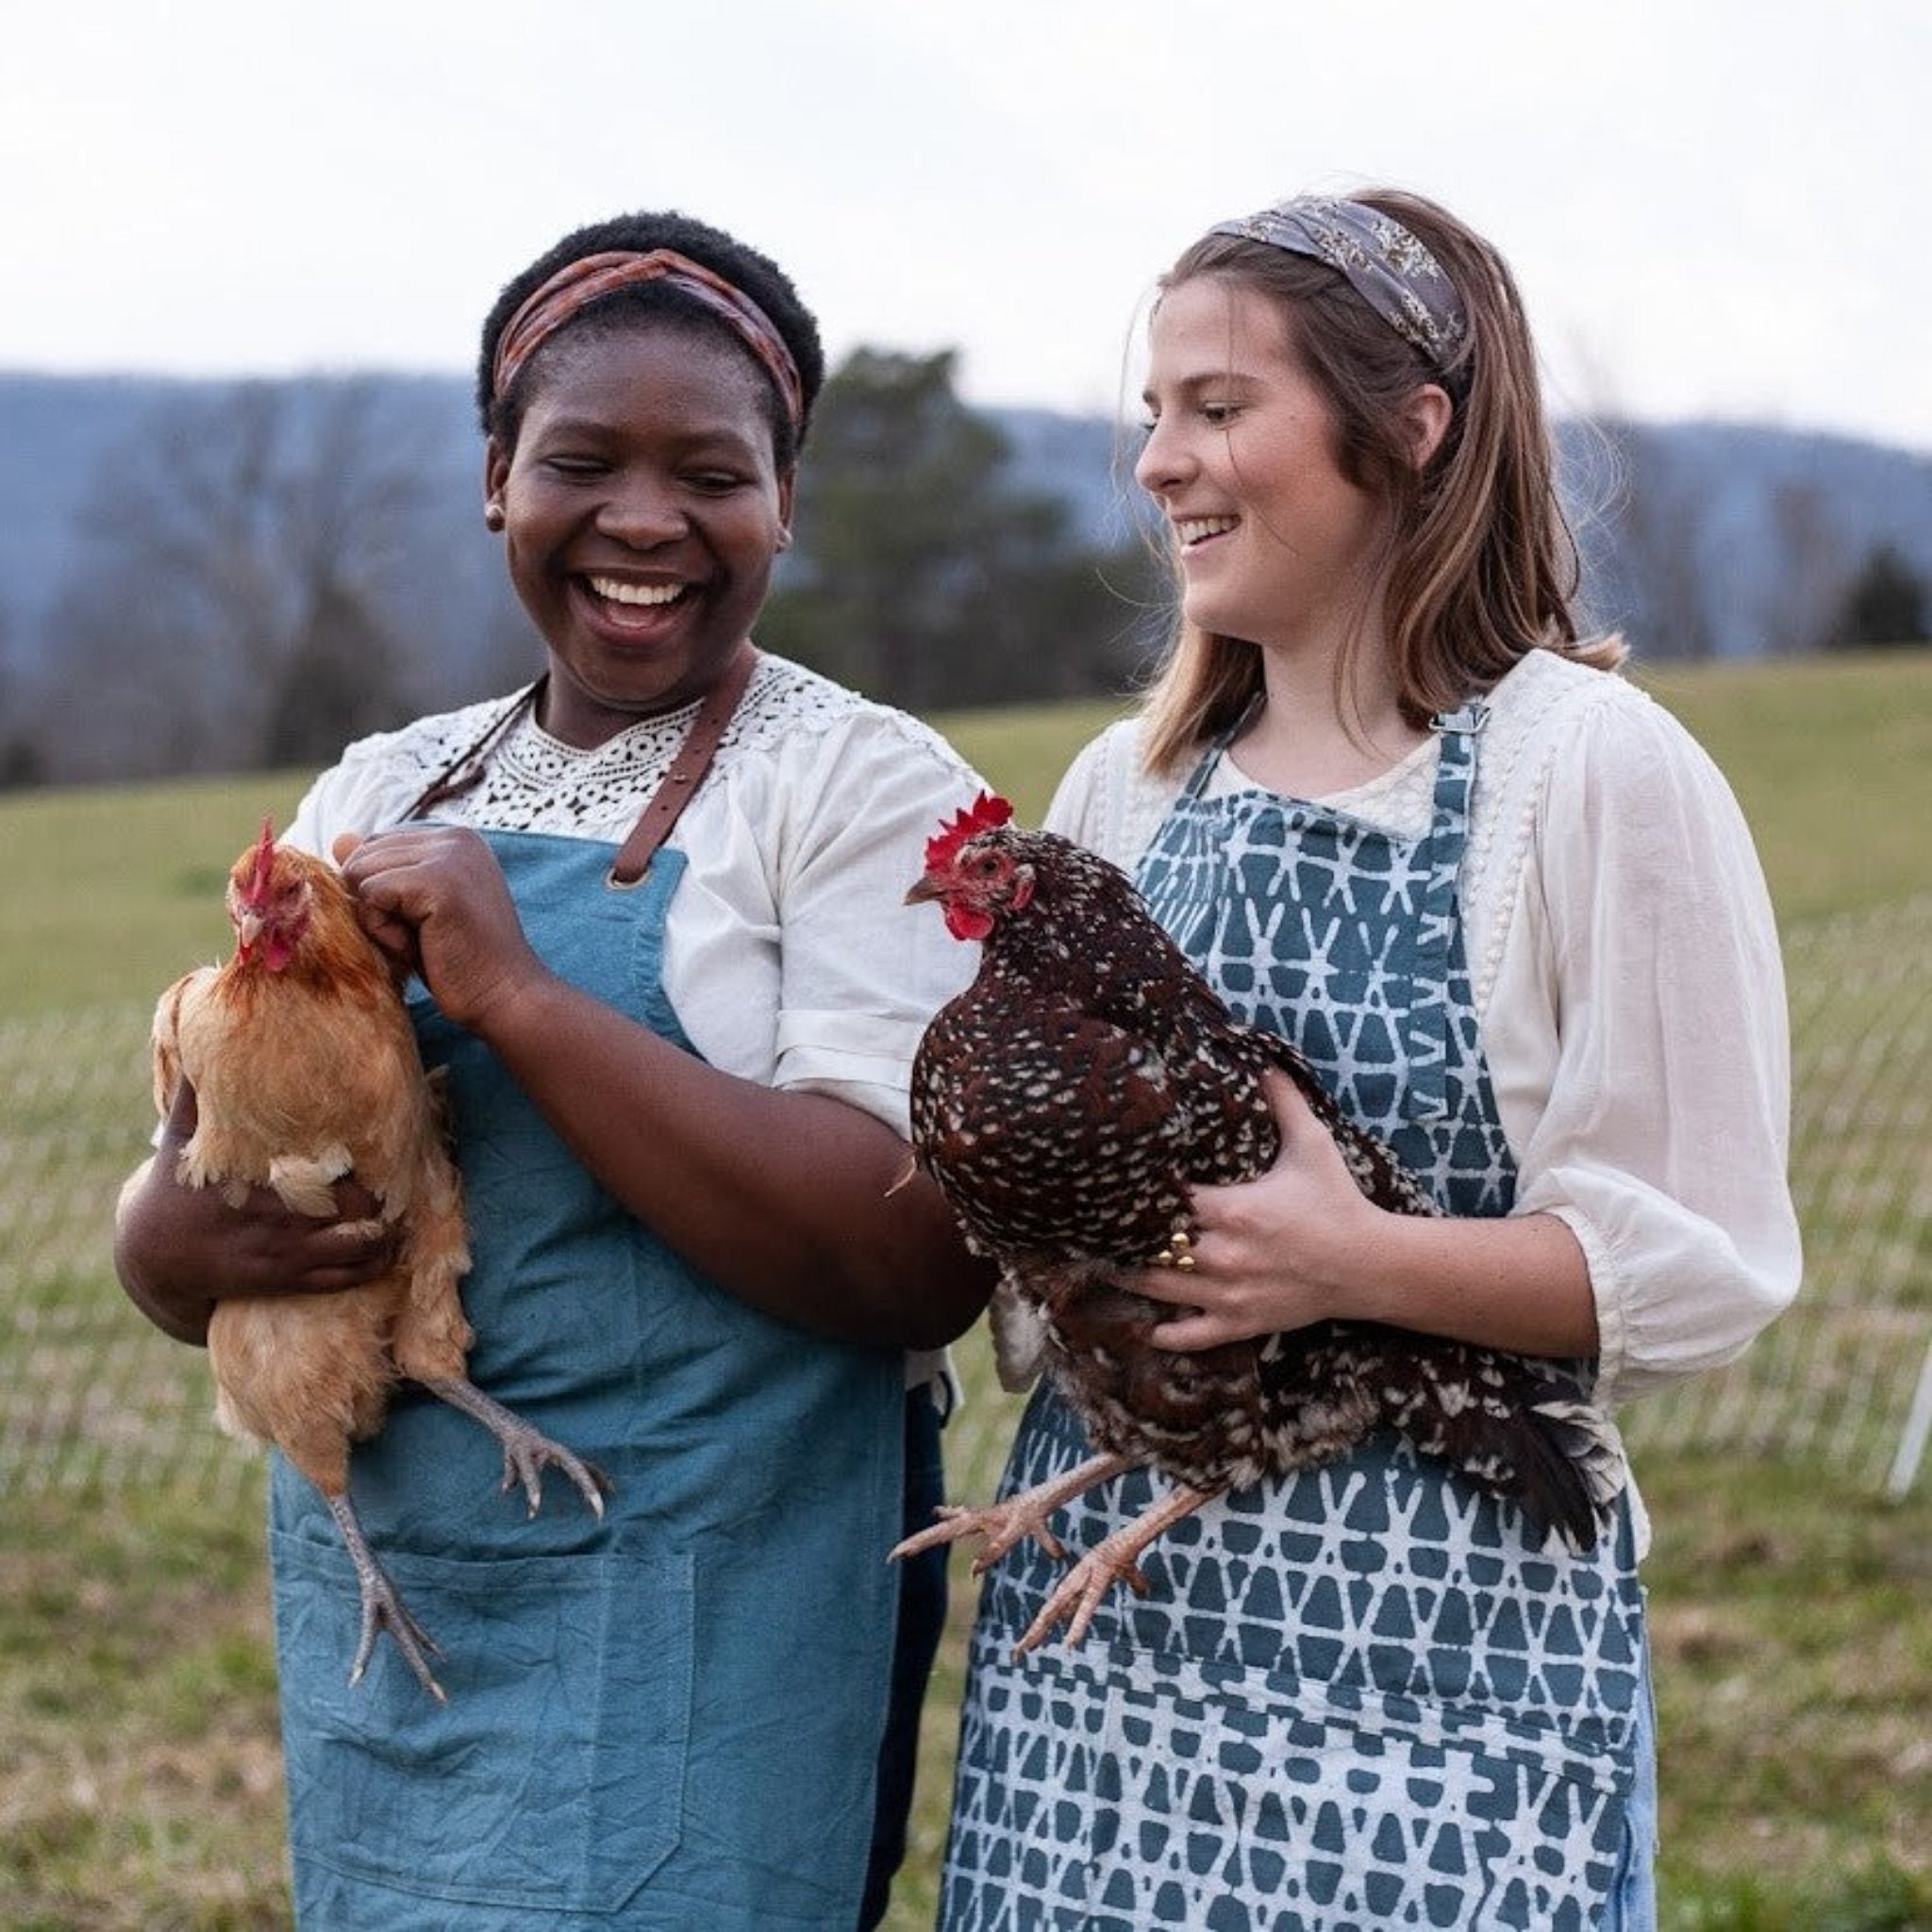
M806 423L811 419L811 404L817 400L819 388L825 383L825 350L819 344L819 325L804 301L798 299L798 290L792 288L790 276L775 261L771 261L769 255L761 255L755 247L748 247L736 236L724 234L723 228L713 228L709 222L699 222L690 214L678 214L672 209L659 213L643 211L636 214L618 214L607 222L591 222L585 228L576 228L554 247L545 249L545 253L539 255L522 274L504 284L502 294L497 298L497 305L489 311L489 319L483 323L483 346L477 355L475 394L483 435L495 437L506 450L516 448L516 437L524 423L524 408L529 400L531 371L535 371L543 361L543 352L539 350L529 363L526 363L516 377L512 377L508 390L498 396L495 392L497 338L504 332L510 317L516 315L529 296L553 274L556 274L558 269L583 255L601 255L612 249L647 255L651 249L659 247L668 247L678 255L688 255L713 274L724 276L732 288L750 296L750 299L765 311L773 328L779 330L784 338L784 346L792 352L792 361L798 365L798 384L804 396L804 419L796 429L792 427L790 413L784 408L784 398L779 394L779 388L771 381L763 363L752 355L752 352L721 317L670 282L639 282L603 296L601 299L589 303L589 307L585 307L580 315L572 317L558 332L568 334L576 330L582 338L582 334L591 328L624 328L638 317L649 315L670 327L688 328L694 334L701 332L707 338L732 344L732 348L740 355L746 355L759 371L759 379L771 398L767 413L771 419L773 454L777 456L781 469L790 469L790 466L798 460L798 448L806 439Z

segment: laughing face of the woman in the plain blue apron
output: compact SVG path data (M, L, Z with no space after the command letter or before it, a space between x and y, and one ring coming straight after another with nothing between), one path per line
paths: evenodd
M676 325L560 334L516 448L489 448L510 582L549 645L543 726L597 746L719 678L792 514L765 377Z

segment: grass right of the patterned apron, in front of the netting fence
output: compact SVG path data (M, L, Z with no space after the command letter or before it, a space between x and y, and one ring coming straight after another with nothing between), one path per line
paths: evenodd
M1667 1922L1932 1926L1932 1495L1696 1455L1636 1472Z

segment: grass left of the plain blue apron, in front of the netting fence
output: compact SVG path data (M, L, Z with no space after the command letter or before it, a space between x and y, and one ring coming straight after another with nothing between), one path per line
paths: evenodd
M0 1926L286 1926L259 1503L12 1499L0 1549Z

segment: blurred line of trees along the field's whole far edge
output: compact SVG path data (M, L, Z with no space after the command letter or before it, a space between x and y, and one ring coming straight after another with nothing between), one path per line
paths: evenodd
M129 425L35 649L0 607L0 782L321 765L527 680L541 653L481 527L481 439L452 439L446 386L440 413L412 394L375 377L199 384ZM1787 466L1739 524L1735 439L1561 437L1586 609L1646 655L1932 628L1924 553L1851 516L1824 469ZM1932 466L1909 479L1932 491ZM952 352L862 348L819 398L757 636L914 711L1119 696L1171 591L1146 520L1113 522L1122 535L1095 537L1066 489L1022 475L1001 419L962 402ZM1741 570L1750 543L1776 568Z

